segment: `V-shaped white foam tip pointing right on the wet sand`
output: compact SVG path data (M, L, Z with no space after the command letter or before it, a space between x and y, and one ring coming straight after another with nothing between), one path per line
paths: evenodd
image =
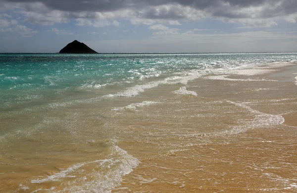
M258 110L252 109L246 104L238 103L234 101L227 100L227 102L234 104L236 106L240 106L242 108L247 109L249 112L255 115L255 118L245 125L235 126L232 129L232 133L241 133L247 131L248 129L252 128L260 128L265 126L273 126L273 125L281 125L285 122L285 119L282 115L273 115L260 112Z

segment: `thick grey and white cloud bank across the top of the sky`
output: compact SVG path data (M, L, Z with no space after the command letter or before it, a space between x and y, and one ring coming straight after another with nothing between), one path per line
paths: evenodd
M0 0L0 7L41 25L71 19L94 27L118 26L118 19L135 25L179 25L203 18L259 27L275 26L279 20L297 22L297 0Z

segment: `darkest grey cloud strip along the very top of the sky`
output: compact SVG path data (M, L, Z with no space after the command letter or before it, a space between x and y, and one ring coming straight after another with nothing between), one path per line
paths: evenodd
M114 11L124 8L145 8L164 4L180 4L197 9L229 3L231 6L247 7L261 5L267 0L2 0L6 2L32 3L41 2L47 7L62 11ZM293 2L292 0L287 0ZM279 0L269 0L274 4Z

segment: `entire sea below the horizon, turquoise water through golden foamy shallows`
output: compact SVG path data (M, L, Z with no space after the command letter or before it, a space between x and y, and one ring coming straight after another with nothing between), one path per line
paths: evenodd
M0 54L0 192L297 191L296 62Z

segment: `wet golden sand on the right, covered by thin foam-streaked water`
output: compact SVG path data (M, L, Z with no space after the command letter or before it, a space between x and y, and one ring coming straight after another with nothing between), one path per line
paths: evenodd
M196 96L154 91L155 105L118 113L119 146L139 165L112 192L296 192L297 65L247 71L197 79L186 88Z

